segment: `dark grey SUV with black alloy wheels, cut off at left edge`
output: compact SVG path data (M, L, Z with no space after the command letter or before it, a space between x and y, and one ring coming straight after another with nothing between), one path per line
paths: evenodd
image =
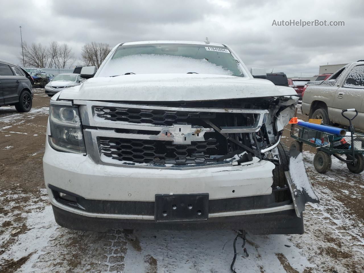
M32 108L32 77L16 64L0 60L0 106L14 105L18 112Z

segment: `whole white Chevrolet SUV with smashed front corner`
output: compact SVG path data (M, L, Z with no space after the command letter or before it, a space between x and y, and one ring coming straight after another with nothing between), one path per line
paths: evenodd
M83 67L87 80L50 103L43 167L56 222L302 234L305 202L318 200L305 171L292 173L302 154L280 143L298 97L252 74L208 41L120 43L97 71Z

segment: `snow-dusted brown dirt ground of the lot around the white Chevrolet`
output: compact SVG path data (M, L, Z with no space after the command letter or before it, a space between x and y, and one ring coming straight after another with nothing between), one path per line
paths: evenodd
M59 227L42 169L50 98L43 89L34 91L28 113L0 107L0 273L230 272L234 231L92 233ZM292 141L289 128L283 141ZM250 256L237 245L236 272L364 272L364 174L350 173L337 159L331 171L319 174L314 152L304 146L320 198L306 205L305 234L248 234Z

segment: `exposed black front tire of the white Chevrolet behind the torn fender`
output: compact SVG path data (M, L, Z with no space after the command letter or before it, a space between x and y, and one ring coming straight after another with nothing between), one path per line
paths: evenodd
M278 155L281 161L280 165L277 165L273 169L273 189L276 187L284 187L286 185L286 176L284 174L285 171L289 170L289 150L288 147L283 143L278 143ZM290 198L289 190L278 191L276 193L276 202L283 202Z

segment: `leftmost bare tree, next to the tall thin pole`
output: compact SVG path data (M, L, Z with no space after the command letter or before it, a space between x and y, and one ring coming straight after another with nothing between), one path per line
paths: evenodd
M23 42L23 51L26 66L46 67L49 58L46 46L32 43L29 47L27 42ZM23 58L18 57L18 59L22 60Z

